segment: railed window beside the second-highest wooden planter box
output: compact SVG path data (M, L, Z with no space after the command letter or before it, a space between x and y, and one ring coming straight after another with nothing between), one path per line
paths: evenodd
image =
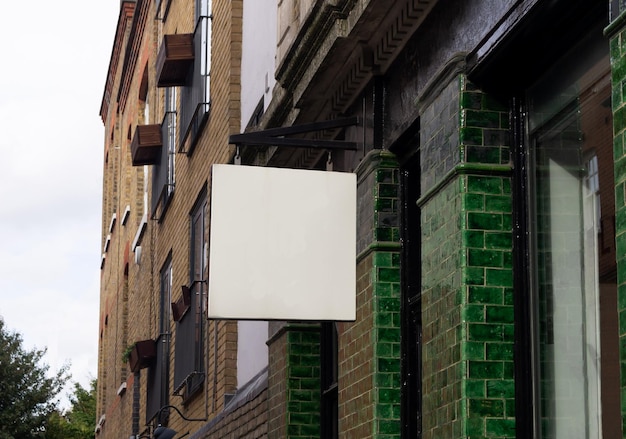
M152 171L152 218L161 220L176 185L176 88L165 89L165 116L161 123L161 160Z

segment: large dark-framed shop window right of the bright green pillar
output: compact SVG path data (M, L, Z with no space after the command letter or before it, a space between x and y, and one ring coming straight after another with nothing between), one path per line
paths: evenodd
M525 101L534 434L621 437L611 81L602 26L530 86Z

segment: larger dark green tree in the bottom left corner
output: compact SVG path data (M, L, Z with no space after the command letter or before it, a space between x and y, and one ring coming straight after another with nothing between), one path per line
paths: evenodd
M41 437L57 396L69 379L67 366L48 374L46 350L27 350L22 336L0 318L0 439Z

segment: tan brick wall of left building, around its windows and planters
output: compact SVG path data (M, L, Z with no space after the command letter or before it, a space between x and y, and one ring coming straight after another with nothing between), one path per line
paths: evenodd
M135 263L130 249L144 214L144 183L152 181L152 167L144 181L143 166L133 167L130 143L137 124L161 123L164 114L164 89L155 87L155 61L162 36L166 33L191 33L195 27L194 2L172 1L165 21L157 16L154 0L137 2L143 12L141 20L132 16L132 7L120 21L117 46L111 60L110 93L105 94L102 108L105 122L103 226L102 242L109 234L111 215L117 224L109 243L101 273L101 315L98 372L97 416L106 414L106 423L99 438L128 437L132 433L133 376L122 362L126 347L138 340L156 338L159 325L159 271L171 253L173 300L180 297L180 286L189 283L189 214L199 194L210 184L213 163L227 162L232 148L228 135L239 127L239 69L241 58L241 0L213 1L213 41L211 71L211 113L192 156L176 155L176 187L169 209L162 221L148 220L141 240L142 256ZM162 4L168 3L167 1ZM140 25L139 25L140 24ZM138 26L139 25L139 26ZM135 26L134 28L132 26ZM135 41L127 41L134 35ZM138 36L140 38L138 38ZM117 62L117 59L120 59ZM143 73L147 69L146 102L149 118L144 118L145 104L139 99ZM122 73L124 72L124 76ZM117 98L121 96L122 106ZM180 94L178 95L180 96ZM210 192L209 192L210 193ZM148 187L149 198L152 190ZM131 215L125 225L121 216L130 206ZM151 206L151 200L148 200ZM150 208L148 207L148 217ZM208 227L205 231L208 237ZM125 274L127 273L127 274ZM175 325L171 324L172 331ZM237 389L237 326L235 322L208 322L205 332L205 388L183 407L189 418L214 418L224 408L225 395ZM172 334L170 377L173 379L175 333ZM128 390L122 396L117 389L128 379ZM147 369L138 375L140 385L139 432L145 428ZM173 391L170 384L170 393ZM170 402L179 404L176 397ZM258 409L257 409L258 410ZM198 429L170 412L170 425L178 431Z

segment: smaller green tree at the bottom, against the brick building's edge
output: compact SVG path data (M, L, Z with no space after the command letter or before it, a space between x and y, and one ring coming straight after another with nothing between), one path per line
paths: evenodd
M50 415L46 439L91 439L96 428L96 380L90 389L74 383L71 407L65 413L58 410Z

